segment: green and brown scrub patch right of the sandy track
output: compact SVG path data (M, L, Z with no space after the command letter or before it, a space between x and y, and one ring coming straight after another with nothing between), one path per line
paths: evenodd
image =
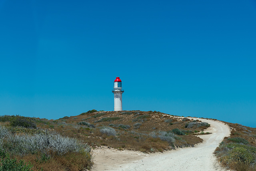
M225 137L216 148L215 154L227 169L256 171L256 128L237 123L228 123L230 137Z

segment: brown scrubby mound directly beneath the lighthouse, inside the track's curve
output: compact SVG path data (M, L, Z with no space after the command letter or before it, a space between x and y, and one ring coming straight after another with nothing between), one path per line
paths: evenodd
M205 126L188 129L185 125L192 120L182 120L158 111L92 111L67 119L60 118L55 123L50 121L50 124L61 135L76 137L92 147L106 145L147 153L194 146L202 142L194 136L194 132L206 129ZM90 126L91 123L94 126ZM38 126L50 128L44 123ZM173 133L175 128L182 134Z

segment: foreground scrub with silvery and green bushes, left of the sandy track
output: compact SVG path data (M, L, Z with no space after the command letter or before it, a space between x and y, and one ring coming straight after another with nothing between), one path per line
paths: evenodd
M18 115L0 116L0 121L0 171L78 171L92 166L89 145L36 126L50 128L54 122Z

